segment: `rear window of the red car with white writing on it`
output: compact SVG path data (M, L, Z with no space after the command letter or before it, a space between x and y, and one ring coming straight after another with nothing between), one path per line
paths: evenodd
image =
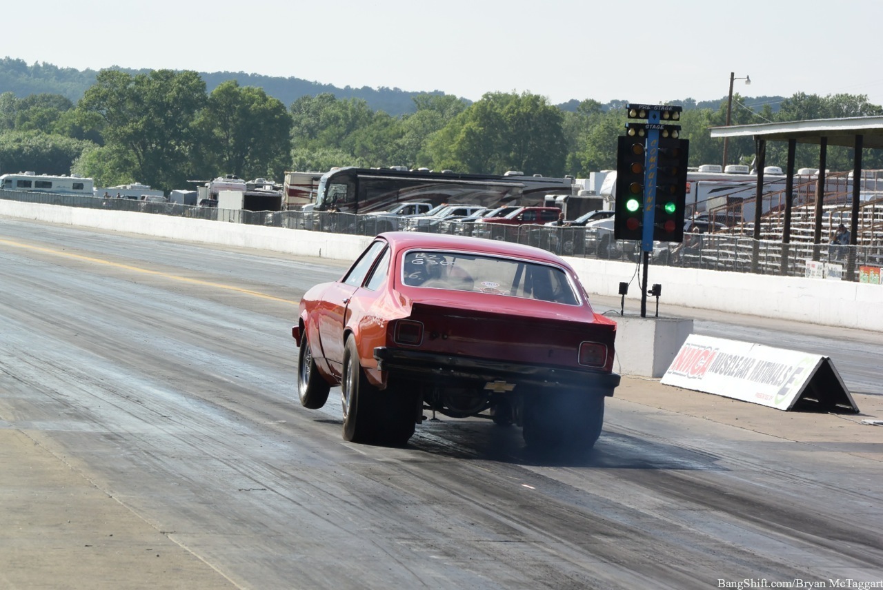
M568 273L555 265L463 252L409 250L402 282L410 287L476 291L576 305Z

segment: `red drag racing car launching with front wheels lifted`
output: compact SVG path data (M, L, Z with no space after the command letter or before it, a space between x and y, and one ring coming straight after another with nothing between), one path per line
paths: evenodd
M322 407L340 385L346 440L405 444L431 410L589 449L619 385L615 330L546 250L394 232L311 288L291 335L301 403Z

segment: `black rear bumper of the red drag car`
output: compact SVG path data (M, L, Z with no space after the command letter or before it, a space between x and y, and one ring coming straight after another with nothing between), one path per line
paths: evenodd
M511 391L509 385L522 385L525 388L578 390L609 397L620 382L620 376L616 373L438 355L403 348L376 347L374 358L378 368L390 374L417 379L434 377L436 383L441 379L442 384L448 381L451 385L484 382L486 389L493 391L499 387L501 392Z

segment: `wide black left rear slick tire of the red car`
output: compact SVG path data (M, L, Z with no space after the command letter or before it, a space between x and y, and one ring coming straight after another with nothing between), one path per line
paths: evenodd
M352 443L402 446L414 434L417 396L402 388L381 392L368 382L358 362L356 340L350 336L343 351L343 439Z

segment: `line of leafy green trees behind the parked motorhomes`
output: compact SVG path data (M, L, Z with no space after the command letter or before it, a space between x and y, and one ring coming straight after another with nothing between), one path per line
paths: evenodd
M98 186L140 182L162 190L224 174L281 180L285 170L335 166L583 177L615 168L626 123L625 101L587 99L565 110L532 93L487 93L472 103L441 93L412 100L413 112L399 116L333 93L305 95L286 108L235 80L209 93L195 71L103 70L76 103L61 94L0 94L0 171L74 172ZM683 103L681 137L691 140L691 166L721 163L722 139L708 128L725 123L726 101L718 108ZM734 95L740 108L732 110L732 124L883 114L864 95L796 93L776 111L768 103L741 107L746 103ZM883 168L876 152L865 151L865 168ZM750 164L753 140L731 139L728 154L729 163ZM786 154L786 144L772 143L766 163L784 168ZM798 168L818 159L818 146L798 146ZM852 151L830 147L827 166L851 169Z

